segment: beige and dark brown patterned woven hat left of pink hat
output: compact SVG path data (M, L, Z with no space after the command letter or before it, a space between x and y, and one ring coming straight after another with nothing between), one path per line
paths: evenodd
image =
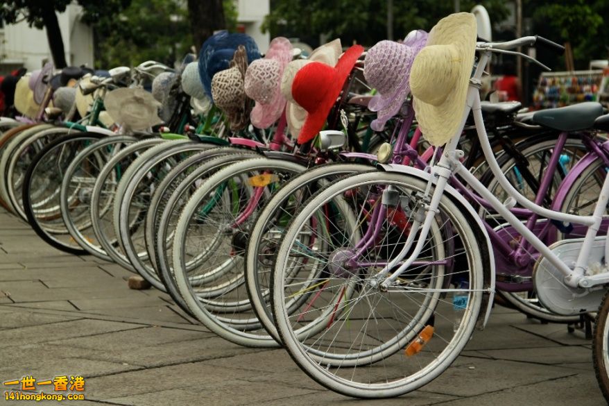
M212 79L214 103L230 121L230 129L246 128L249 122L251 103L245 90L248 56L243 45L239 45L230 62L230 68L218 72Z

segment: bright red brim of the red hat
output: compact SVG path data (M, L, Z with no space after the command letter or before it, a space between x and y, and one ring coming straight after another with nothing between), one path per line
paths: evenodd
M302 126L300 133L298 134L298 144L305 144L311 141L323 128L325 121L327 120L332 106L336 103L338 95L341 94L341 90L345 86L345 81L351 74L357 59L363 53L363 46L353 45L351 46L340 59L336 62L334 67L336 73L334 74L334 81L330 84L324 99L319 104L318 108L314 112L309 112L305 124ZM298 75L298 74L296 74Z

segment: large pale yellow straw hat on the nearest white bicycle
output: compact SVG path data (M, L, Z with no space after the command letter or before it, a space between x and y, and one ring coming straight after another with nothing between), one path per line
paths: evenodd
M413 107L433 146L451 139L463 119L476 51L476 17L458 12L431 28L411 69Z

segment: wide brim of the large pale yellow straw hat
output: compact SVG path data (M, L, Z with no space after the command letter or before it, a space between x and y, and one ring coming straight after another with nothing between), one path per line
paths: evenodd
M446 144L456 135L456 131L461 125L474 64L476 37L476 17L469 12L449 15L441 19L429 32L427 46L456 46L456 53L461 56L457 68L457 81L452 92L447 95L442 103L438 105L425 103L413 94L413 106L418 125L425 139L433 146ZM415 64L421 53L415 58ZM424 81L434 80L434 78L424 76L424 71L425 69L420 69L421 77L413 78L415 81L421 81L416 84L417 86L424 86Z

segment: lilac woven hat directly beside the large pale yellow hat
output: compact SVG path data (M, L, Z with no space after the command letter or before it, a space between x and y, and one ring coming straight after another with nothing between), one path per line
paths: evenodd
M370 125L372 130L381 131L388 119L395 116L410 92L410 70L415 56L425 46L427 33L413 31L402 44L381 41L366 53L363 76L368 85L377 90L368 108L378 112L377 119Z

